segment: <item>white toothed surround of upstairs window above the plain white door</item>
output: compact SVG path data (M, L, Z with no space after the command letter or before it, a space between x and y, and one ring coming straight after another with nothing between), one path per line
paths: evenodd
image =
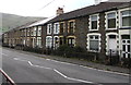
M108 28L108 14L109 13L115 13L116 14L116 16L115 16L115 19L116 19L116 27L115 28ZM106 27L106 31L110 31L110 29L117 29L117 11L110 11L110 12L106 12L106 16L105 16L105 19L106 19L106 21L105 21L105 27ZM111 19L114 19L114 17L111 17Z

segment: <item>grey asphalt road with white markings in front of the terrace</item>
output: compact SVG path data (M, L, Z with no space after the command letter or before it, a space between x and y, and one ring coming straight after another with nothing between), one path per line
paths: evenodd
M129 83L129 76L124 74L45 59L32 53L28 54L3 48L1 54L2 70L17 84L86 83L92 85Z

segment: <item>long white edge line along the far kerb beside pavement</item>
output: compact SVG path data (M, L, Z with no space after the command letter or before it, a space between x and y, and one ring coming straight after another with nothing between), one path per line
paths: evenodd
M51 59L46 59L46 60L53 61L53 62L59 62L59 63L63 63L63 64L70 64L70 65L79 65L79 64L73 64L73 63L69 63L69 62L61 62L61 61L57 61L57 60L51 60ZM106 73L114 73L114 74L124 75L124 76L130 75L130 74L120 73L120 72L111 72L111 71L106 71L106 70L98 70L98 69L90 68L90 66L85 66L85 65L79 65L79 66L84 68L84 69L96 70L96 71L100 71L100 72L106 72Z

